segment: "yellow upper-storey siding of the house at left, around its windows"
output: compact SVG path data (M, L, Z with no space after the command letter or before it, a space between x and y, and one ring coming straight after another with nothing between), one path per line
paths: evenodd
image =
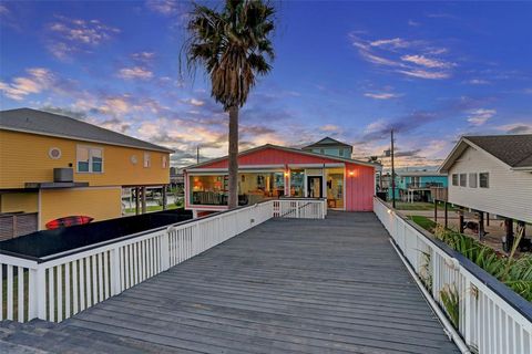
M103 173L76 173L76 146L103 147ZM61 158L49 157L51 147L61 149ZM147 152L151 167L143 167L147 150L89 142L76 142L43 135L0 131L0 189L23 188L29 181L52 181L54 167L74 168L75 181L90 186L162 185L170 183L170 156L167 153ZM132 164L135 155L137 163ZM166 168L162 166L166 156Z

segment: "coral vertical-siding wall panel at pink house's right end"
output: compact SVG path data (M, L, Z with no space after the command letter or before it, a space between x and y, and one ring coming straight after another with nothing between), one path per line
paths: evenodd
M352 176L350 176L352 173ZM346 210L372 211L375 168L346 164Z

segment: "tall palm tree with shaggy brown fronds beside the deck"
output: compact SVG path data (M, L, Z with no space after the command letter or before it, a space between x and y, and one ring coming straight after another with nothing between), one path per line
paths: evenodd
M228 207L238 205L238 110L257 75L270 70L275 9L260 0L227 0L221 11L194 4L183 53L187 69L209 75L211 96L229 114Z

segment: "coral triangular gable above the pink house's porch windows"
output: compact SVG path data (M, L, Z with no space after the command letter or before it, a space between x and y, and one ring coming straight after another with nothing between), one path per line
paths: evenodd
M284 164L334 164L334 160L327 157L315 157L291 152L285 152L275 148L266 148L256 153L238 156L238 165L284 165ZM202 168L227 168L227 159L203 165Z

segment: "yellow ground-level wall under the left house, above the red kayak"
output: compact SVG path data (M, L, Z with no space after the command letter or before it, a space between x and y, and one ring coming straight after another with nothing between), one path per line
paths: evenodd
M69 216L88 216L94 218L94 221L120 218L121 197L120 187L43 189L40 229L45 229L44 225L48 221Z

